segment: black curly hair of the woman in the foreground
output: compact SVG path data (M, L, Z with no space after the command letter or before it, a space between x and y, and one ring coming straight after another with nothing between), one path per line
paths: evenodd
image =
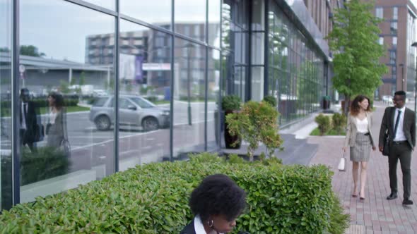
M246 193L228 176L211 175L192 191L189 207L203 222L211 215L223 215L232 221L245 209Z

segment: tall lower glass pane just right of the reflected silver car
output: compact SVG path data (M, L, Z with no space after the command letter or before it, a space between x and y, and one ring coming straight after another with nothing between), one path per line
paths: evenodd
M174 54L173 148L181 157L204 151L206 49L176 38Z

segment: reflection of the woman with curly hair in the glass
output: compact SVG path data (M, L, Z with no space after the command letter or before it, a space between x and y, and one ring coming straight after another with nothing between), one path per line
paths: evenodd
M47 117L47 146L58 148L67 138L66 113L64 97L57 92L51 92L47 98L49 113Z

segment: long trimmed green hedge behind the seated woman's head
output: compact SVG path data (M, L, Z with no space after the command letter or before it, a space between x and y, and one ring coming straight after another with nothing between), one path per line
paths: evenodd
M247 191L247 211L237 220L237 230L331 230L335 202L326 166L282 166L277 160L225 163L203 154L190 161L138 166L18 204L0 216L0 233L179 233L192 220L190 192L213 173L227 174Z

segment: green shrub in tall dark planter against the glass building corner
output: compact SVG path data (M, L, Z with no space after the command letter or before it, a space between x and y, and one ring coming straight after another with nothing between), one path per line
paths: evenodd
M221 101L221 108L225 111L225 118L228 114L235 113L240 110L242 101L237 95L228 95L223 97ZM225 146L228 149L239 149L242 140L238 135L230 135L228 123L225 121Z

